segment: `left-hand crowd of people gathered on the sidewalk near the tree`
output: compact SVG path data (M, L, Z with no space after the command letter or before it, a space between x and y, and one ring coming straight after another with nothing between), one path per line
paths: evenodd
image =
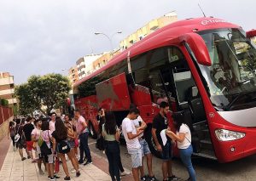
M75 173L76 177L81 174L79 164L87 166L92 162L88 134L87 123L79 110L74 111L73 119L66 115L62 120L61 116L53 112L49 118L35 119L28 116L9 122L9 135L14 151L19 150L21 161L31 159L32 163L38 163L39 173L43 175L45 171L51 181L60 178L57 175L60 164L66 174L64 180L71 179L67 167L68 159L73 166L71 173ZM23 150L26 150L27 157L24 156ZM34 154L32 154L33 150Z

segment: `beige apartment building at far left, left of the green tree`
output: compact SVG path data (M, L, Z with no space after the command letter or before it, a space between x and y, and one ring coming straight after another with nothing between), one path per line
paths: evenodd
M15 82L14 76L11 76L9 72L0 72L0 99L7 99L9 106L17 104L15 94Z

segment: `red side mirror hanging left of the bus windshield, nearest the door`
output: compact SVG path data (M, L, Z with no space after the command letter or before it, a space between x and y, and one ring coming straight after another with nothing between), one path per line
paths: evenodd
M197 33L187 33L181 38L189 44L189 48L191 48L192 52L195 54L195 58L199 64L207 66L212 65L207 45L200 35Z

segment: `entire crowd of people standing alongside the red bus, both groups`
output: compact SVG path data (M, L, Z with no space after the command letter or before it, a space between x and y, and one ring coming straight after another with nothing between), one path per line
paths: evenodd
M161 153L163 180L175 181L178 179L172 173L172 146L177 144L181 160L189 173L188 180L195 181L195 170L191 162L193 148L189 127L183 119L182 113L174 113L172 118L177 133L173 133L168 127L166 116L168 111L169 105L164 101L160 103L160 112L154 116L151 129L156 148ZM97 145L97 148L102 148L101 150L104 150L108 158L109 175L113 181L119 181L121 176L130 174L122 166L119 148L120 129L125 137L128 154L131 156L134 180L158 180L154 177L153 156L144 136L147 124L143 122L136 105L130 106L129 113L121 127L117 125L114 113L105 112L102 108L99 109L96 119L99 121L97 144L99 144L99 140L102 140L101 144L103 144L102 146ZM27 159L32 159L32 163L38 163L40 174L44 174L42 169L42 163L44 163L49 180L60 178L57 176L60 163L66 174L64 180L71 179L67 159L71 161L73 166L71 173L76 173L76 177L81 174L79 172L80 164L86 166L92 163L88 145L89 129L79 110L74 110L73 118L66 115L63 120L54 112L50 114L49 119L38 118L36 120L33 117L16 119L15 122L9 123L9 134L14 150L19 150L21 161L26 160L23 155L25 149ZM36 157L33 157L32 150L35 150ZM143 158L147 162L148 175L144 172Z

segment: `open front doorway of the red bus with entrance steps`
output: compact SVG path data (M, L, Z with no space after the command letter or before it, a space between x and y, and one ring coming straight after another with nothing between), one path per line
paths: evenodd
M190 127L194 155L215 160L207 116L187 60L175 47L168 49L168 56L176 92L177 110L183 110L184 119Z

